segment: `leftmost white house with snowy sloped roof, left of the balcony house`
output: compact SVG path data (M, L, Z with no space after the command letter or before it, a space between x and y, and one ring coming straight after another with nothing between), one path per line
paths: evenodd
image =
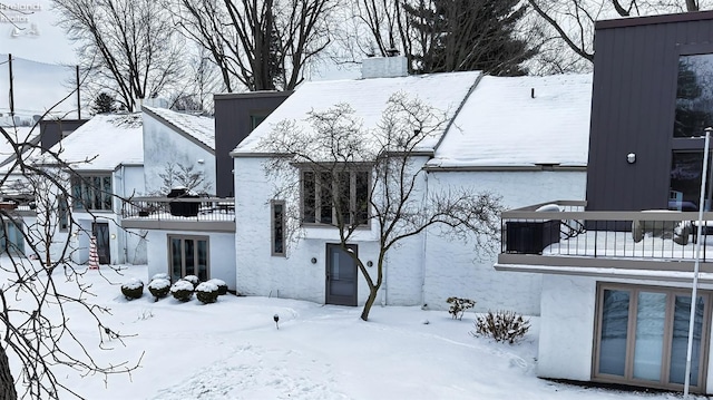
M139 232L120 228L120 198L144 189L141 142L140 115L97 115L49 149L74 170L68 182L71 198L57 202L59 234L53 240L60 246L69 238L74 262L81 264L89 260L92 234L100 264L146 262L145 238ZM58 166L47 154L35 162L47 168ZM62 205L71 207L79 224L77 231L70 232ZM50 254L57 251L50 248Z

